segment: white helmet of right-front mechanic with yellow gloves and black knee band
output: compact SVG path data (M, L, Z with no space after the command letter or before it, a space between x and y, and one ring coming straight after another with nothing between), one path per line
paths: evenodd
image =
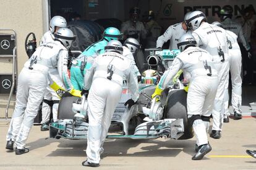
M192 34L186 33L179 38L179 42L177 43L177 47L180 51L184 51L187 47L195 47L197 41L195 41L194 36Z

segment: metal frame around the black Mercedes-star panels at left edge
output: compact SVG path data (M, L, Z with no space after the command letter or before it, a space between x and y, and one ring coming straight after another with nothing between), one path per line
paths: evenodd
M14 49L12 50L12 87L11 87L11 91L10 91L10 94L9 94L9 98L7 100L6 117L5 118L0 118L0 121L10 121L11 118L8 118L8 110L9 110L10 102L15 102L15 101L11 101L11 97L12 97L12 94L14 92L15 85L17 86L17 84L18 84L18 78L17 78L17 73L18 73L18 66L17 66L17 34L16 34L15 30L0 29L0 31L12 31L14 33L14 36L15 36ZM3 55L3 56L5 56L5 55ZM8 55L7 57L11 57L11 56Z

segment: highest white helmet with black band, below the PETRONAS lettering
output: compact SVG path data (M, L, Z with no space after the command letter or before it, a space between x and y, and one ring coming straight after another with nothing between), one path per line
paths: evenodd
M202 20L207 20L205 14L200 10L195 10L189 14L186 23L190 28L196 30L201 25Z

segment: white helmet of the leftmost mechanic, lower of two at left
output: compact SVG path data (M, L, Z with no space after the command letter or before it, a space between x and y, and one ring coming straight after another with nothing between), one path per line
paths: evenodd
M70 48L72 42L75 40L74 33L69 30L69 28L59 28L56 34L54 34L55 39L61 41L63 46L67 49Z

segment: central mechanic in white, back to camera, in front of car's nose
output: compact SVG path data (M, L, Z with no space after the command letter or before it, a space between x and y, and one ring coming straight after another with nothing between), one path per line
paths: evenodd
M109 41L105 54L96 57L92 68L85 75L85 91L88 94L87 160L83 166L99 166L103 142L108 134L111 118L121 99L123 78L127 80L132 94L129 107L139 99L139 87L129 59L122 55L122 44Z

